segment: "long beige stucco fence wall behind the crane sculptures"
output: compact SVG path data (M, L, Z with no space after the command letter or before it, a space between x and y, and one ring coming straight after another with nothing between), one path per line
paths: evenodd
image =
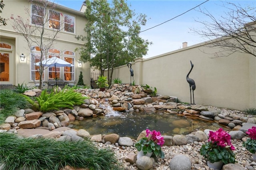
M189 77L196 83L196 104L241 111L256 108L256 57L233 53L228 57L212 58L214 55L204 53L214 53L214 50L219 51L197 44L148 59L137 58L132 63L135 84L148 84L156 87L159 95L178 97L190 103L186 75L191 60L194 68ZM112 80L115 78L130 83L127 65L114 69Z

